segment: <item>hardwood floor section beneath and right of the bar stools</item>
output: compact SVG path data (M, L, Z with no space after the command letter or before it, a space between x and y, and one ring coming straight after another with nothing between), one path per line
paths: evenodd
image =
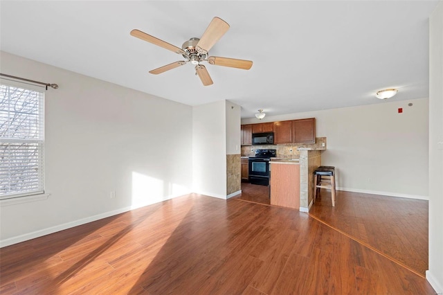
M428 201L321 190L309 214L421 276L428 269Z

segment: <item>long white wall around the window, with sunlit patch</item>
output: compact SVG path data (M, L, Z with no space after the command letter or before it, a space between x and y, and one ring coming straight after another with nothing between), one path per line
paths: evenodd
M51 195L1 206L2 246L190 193L192 107L16 55L0 59L1 73L60 86L46 91Z

